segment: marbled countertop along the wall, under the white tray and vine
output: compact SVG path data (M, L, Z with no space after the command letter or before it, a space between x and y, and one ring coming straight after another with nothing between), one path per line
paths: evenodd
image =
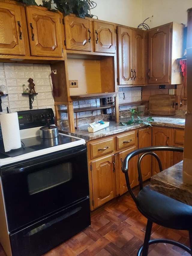
M144 119L147 118L147 115L144 116ZM153 116L154 121L151 122L152 126L161 126L161 127L172 127L172 128L184 128L185 119L178 116ZM128 118L120 119L120 122L127 122ZM107 137L113 134L122 133L125 131L131 131L137 128L144 127L143 124L137 125L121 125L114 121L110 121L110 125L107 128L101 129L94 133L88 132L87 129L78 128L74 133L69 133L67 129L59 130L61 133L70 134L75 137L83 138L85 141L95 140L103 137Z

